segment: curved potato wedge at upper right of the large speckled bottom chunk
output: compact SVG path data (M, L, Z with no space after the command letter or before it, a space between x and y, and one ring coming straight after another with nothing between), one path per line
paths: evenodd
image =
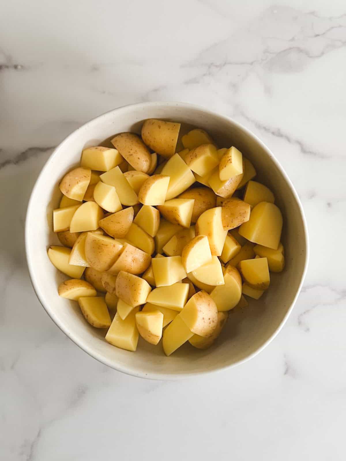
M237 306L242 293L241 277L235 267L227 266L223 277L225 284L216 286L210 293L219 312L229 311Z

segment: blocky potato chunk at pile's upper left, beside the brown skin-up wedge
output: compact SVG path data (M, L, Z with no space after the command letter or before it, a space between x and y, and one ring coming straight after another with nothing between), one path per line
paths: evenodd
M117 149L96 146L84 149L81 166L97 171L109 171L124 161Z

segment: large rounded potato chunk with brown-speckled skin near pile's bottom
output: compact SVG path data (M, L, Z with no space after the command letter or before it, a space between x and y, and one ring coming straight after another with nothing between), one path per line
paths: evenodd
M209 337L216 328L217 307L208 293L198 291L187 301L179 317L192 333Z

